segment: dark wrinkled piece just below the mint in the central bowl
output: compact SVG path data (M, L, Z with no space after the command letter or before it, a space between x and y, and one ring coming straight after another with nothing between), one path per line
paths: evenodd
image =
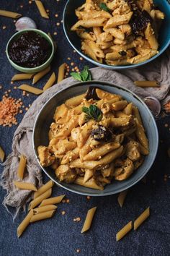
M112 131L107 127L99 125L91 131L91 136L94 137L94 140L107 142L112 139Z

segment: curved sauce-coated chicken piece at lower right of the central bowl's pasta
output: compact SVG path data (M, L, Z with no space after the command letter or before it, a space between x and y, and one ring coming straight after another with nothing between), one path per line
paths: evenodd
M127 158L124 161L124 165L122 166L122 171L120 174L115 176L115 179L117 181L122 181L124 179L128 179L128 177L133 174L134 166L133 161L131 161L129 158Z

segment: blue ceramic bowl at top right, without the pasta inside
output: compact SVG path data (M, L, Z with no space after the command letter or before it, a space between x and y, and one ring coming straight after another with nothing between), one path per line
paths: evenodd
M81 51L81 40L76 35L75 32L71 31L71 27L73 24L77 22L77 17L75 14L75 9L77 7L80 7L82 4L84 4L85 0L68 0L66 3L66 7L63 11L63 30L66 35L66 38L68 39L68 42L71 44L71 46L87 61L90 61L92 64L104 67L107 69L133 69L136 67L140 67L144 64L147 64L150 61L153 61L153 59L156 59L158 56L160 56L166 48L168 48L170 44L170 1L169 0L153 0L154 4L158 9L160 9L165 14L165 19L163 20L161 30L158 37L158 54L153 56L151 59L148 59L147 61L143 61L140 64L131 64L131 65L125 65L125 66L111 66L107 64L100 64L97 61L94 61L93 59L89 58L89 56L85 55Z

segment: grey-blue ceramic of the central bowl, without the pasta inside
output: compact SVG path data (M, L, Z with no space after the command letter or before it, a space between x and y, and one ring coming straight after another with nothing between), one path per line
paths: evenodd
M135 106L138 106L148 136L150 150L150 153L146 156L143 165L140 166L140 168L138 168L138 170L135 171L134 174L130 176L130 178L125 179L122 182L117 182L113 180L111 184L107 184L107 186L104 187L103 191L89 189L87 187L79 186L78 184L66 184L64 182L58 182L58 179L55 176L55 171L53 171L49 167L40 167L43 171L45 171L45 174L47 174L49 178L55 182L55 184L58 184L58 186L63 187L71 192L89 196L112 195L128 189L137 182L139 182L140 179L142 179L143 176L145 176L151 168L158 150L158 129L156 127L156 121L153 118L153 115L151 114L151 111L148 109L146 104L143 103L143 101L138 98L135 93L132 93L130 92L130 90L122 88L120 86L112 85L109 82L99 81L81 82L72 85L69 88L60 90L45 103L45 105L40 110L40 113L37 115L37 119L35 121L35 126L33 129L33 147L35 150L37 161L39 162L37 157L37 147L39 145L48 145L48 131L50 129L50 124L53 122L53 114L55 112L55 108L64 103L68 98L79 95L81 93L85 93L90 85L97 86L98 88L101 88L102 90L107 90L110 93L120 94L127 101L133 102Z

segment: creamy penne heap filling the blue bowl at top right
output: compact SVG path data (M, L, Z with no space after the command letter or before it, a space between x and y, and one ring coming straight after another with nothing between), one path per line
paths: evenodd
M164 13L154 9L153 1L86 0L75 14L78 21L71 30L81 38L81 50L94 61L138 64L158 54Z

